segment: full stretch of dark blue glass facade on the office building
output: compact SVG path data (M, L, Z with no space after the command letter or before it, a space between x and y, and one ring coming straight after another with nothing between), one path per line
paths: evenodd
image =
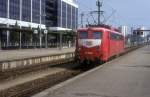
M7 18L7 10L8 0L0 0L0 17ZM9 18L20 20L20 15L21 21L38 24L41 17L47 27L76 29L78 24L78 8L63 0L9 0Z

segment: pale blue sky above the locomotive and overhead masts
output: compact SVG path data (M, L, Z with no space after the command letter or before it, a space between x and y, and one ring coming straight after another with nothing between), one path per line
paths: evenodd
M107 24L120 26L127 25L129 27L145 26L150 28L150 0L102 0L104 17ZM97 10L96 0L78 0L79 4L79 24L81 24L80 14L85 13L84 23L93 22L94 19L89 12ZM112 14L113 13L113 14ZM111 16L109 19L108 17Z

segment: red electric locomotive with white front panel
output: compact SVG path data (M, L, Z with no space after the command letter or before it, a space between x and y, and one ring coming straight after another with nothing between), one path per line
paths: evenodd
M124 51L124 36L107 25L78 29L76 59L80 63L105 62Z

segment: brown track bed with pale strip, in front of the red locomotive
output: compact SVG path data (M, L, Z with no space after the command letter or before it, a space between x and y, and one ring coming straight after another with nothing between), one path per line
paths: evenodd
M78 65L73 63L63 64L21 76L14 81L1 82L0 97L29 97L80 74L82 71L76 69L77 67Z

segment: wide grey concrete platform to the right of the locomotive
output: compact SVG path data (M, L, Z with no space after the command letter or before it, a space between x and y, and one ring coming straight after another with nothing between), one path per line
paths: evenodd
M33 97L150 97L150 46L121 56Z

